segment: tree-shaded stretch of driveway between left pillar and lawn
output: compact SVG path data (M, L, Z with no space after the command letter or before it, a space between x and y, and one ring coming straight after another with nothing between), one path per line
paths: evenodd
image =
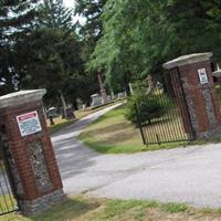
M114 108L114 107L112 107ZM91 150L78 139L81 131L109 108L88 115L52 135L52 143L62 179L73 178L96 165L101 154Z

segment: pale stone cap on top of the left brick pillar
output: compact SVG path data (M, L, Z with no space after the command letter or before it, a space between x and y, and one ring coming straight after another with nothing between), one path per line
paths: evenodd
M32 91L20 91L7 94L4 96L0 96L0 108L40 101L45 93L46 90L32 90Z

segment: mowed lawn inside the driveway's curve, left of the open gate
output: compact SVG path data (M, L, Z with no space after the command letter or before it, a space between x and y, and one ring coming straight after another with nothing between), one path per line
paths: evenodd
M80 136L85 145L103 154L131 154L183 146L186 143L143 145L139 128L128 122L125 108L115 108L91 124Z

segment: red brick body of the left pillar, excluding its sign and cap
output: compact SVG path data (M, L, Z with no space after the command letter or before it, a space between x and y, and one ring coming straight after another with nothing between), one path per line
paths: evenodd
M33 135L21 137L17 123L17 116L34 110L38 112L42 130ZM23 212L38 212L42 210L42 208L40 209L40 204L43 203L41 199L50 201L49 198L50 196L53 196L53 192L62 190L62 181L50 139L49 129L46 127L42 103L28 102L22 105L0 108L0 123L1 126L6 126L9 148L11 150L12 158L15 161L23 189L23 192L18 192ZM30 150L30 145L36 146L36 150L32 148L36 152L31 152L32 150ZM38 168L38 165L40 165L41 168ZM41 172L43 173L41 175ZM44 177L41 178L43 175L45 176L45 179ZM49 183L45 183L45 188L43 186L40 187L41 183L38 185L38 179L40 178L42 180L49 180ZM49 196L49 198L45 196ZM61 191L59 192L59 196L62 196ZM39 210L34 202L39 203ZM28 209L30 211L27 211Z

